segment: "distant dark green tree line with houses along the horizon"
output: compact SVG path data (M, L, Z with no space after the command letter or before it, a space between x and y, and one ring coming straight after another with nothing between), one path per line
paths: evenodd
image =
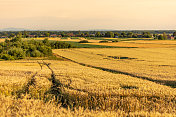
M155 38L165 39L168 34L176 36L174 31L21 31L0 32L0 37L37 38L37 37L109 37L109 38Z

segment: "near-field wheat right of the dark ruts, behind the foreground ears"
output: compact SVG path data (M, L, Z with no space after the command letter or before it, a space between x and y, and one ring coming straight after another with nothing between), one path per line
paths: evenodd
M105 107L102 107L104 109L118 108L124 112L148 111L149 113L172 113L175 110L173 106L175 101L171 101L175 100L174 88L66 61L52 62L51 67L55 71L56 78L63 84L66 85L71 81L69 87L65 87L67 93L82 102L89 101L89 95L97 95L98 99L102 95L107 96L104 102ZM95 101L99 102L97 97Z

